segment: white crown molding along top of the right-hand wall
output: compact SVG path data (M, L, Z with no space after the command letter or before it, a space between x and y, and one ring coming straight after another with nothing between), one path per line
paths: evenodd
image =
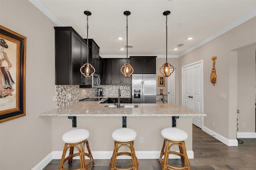
M234 20L233 22L231 22L230 24L228 24L224 28L222 28L222 29L218 30L217 32L215 32L214 34L206 37L204 40L202 40L201 42L197 43L193 47L183 51L180 54L178 54L178 57L181 57L182 55L185 55L186 53L196 49L197 47L200 47L201 45L204 45L205 43L209 42L210 40L213 40L214 38L224 34L225 32L231 30L232 28L235 28L236 26L246 22L247 20L250 20L251 18L253 18L255 16L256 16L256 8L254 8L252 11L248 12L247 14L244 14L243 16L239 17L238 19Z

